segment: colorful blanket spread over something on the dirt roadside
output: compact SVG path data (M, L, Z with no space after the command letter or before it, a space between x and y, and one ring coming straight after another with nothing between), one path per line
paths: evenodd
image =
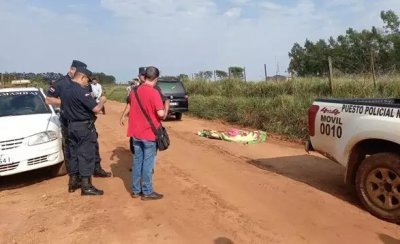
M199 136L219 139L230 142L240 142L245 144L254 144L265 142L267 139L267 132L265 131L245 131L239 129L230 129L228 131L217 130L201 130L197 132Z

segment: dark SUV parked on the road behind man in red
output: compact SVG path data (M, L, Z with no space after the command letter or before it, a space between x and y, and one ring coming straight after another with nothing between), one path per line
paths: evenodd
M169 114L175 115L177 120L182 119L182 113L189 111L188 96L182 81L178 79L158 79L157 86L162 94L170 100Z

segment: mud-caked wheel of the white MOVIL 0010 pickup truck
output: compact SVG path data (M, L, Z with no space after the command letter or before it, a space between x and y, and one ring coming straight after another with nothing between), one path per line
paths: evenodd
M356 190L370 213L400 223L400 156L377 153L364 159L357 170Z

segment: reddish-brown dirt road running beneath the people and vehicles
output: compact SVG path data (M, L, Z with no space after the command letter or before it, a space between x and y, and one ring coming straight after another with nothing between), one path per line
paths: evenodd
M0 243L400 243L400 227L366 212L343 169L301 145L241 145L200 138L228 125L184 117L165 122L170 149L154 176L160 201L132 199L123 104L96 122L101 197L67 193L67 177L30 172L0 179Z

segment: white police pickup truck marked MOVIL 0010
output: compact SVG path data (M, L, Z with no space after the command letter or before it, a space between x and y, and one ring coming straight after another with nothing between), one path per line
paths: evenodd
M308 110L309 140L315 150L346 167L373 215L400 223L400 101L317 99Z

